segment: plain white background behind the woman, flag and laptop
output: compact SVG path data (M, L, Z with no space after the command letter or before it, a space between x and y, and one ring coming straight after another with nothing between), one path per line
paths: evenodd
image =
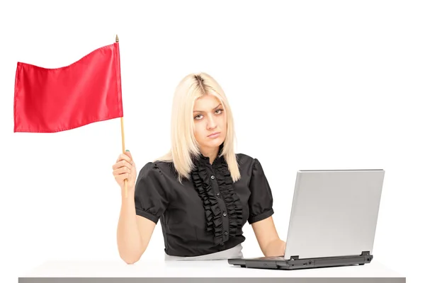
M375 260L421 281L421 1L10 1L0 14L2 282L47 259L119 260L111 166L120 120L13 133L16 62L63 67L115 34L125 146L137 170L169 148L177 83L205 71L232 105L237 152L266 171L281 238L297 170L383 168ZM244 235L244 255L261 255L248 224ZM158 225L143 256L162 259L163 249Z

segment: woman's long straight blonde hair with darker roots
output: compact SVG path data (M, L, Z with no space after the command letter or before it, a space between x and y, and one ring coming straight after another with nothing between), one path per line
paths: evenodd
M236 154L234 153L234 122L232 110L221 86L212 76L199 73L185 76L176 87L171 110L171 149L156 161L173 162L181 183L183 178L189 178L195 167L193 156L200 153L198 141L194 134L193 106L201 96L215 96L222 103L227 117L226 138L220 156L224 156L233 182L241 178Z

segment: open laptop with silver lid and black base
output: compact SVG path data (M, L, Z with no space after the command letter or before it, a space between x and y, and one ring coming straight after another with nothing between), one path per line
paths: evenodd
M285 255L228 263L282 270L370 263L384 174L382 169L297 171Z

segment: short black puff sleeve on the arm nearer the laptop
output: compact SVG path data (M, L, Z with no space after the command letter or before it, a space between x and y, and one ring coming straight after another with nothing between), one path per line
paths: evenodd
M251 180L249 181L249 217L248 223L261 221L273 215L273 195L268 185L268 180L264 174L261 163L254 158L252 166Z

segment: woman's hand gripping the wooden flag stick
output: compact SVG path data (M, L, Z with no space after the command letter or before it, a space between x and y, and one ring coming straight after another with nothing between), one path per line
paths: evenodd
M136 182L136 165L132 160L130 151L120 154L117 161L112 166L115 181L120 185L121 191L124 192L124 180L127 179L128 192L134 192Z

